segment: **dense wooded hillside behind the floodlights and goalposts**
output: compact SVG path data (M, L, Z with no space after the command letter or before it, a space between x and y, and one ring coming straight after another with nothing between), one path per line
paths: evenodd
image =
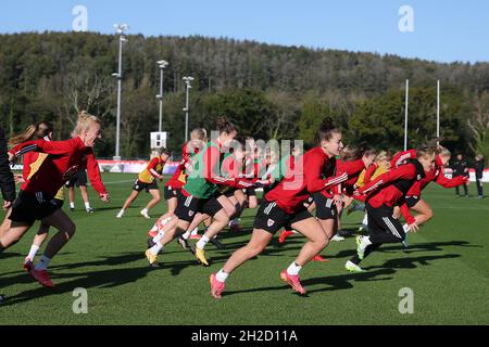
M163 128L170 149L184 141L184 76L195 77L190 128L214 129L226 115L244 134L311 142L330 115L347 143L403 145L404 81L410 79L410 145L436 134L436 80L441 80L441 137L452 151L489 157L489 63L441 64L396 55L313 50L204 37L128 36L123 49L121 154L147 157L158 130L164 78ZM89 33L0 35L0 126L7 134L41 119L67 138L80 110L103 123L99 157L115 143L118 38Z

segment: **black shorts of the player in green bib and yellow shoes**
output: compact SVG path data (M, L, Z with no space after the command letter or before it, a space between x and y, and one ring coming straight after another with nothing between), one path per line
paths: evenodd
M213 217L222 209L223 206L214 196L210 198L198 198L191 195L185 196L179 192L175 216L178 219L191 222L198 213Z

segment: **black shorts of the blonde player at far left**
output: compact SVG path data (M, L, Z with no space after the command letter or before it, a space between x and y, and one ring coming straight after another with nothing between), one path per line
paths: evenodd
M21 191L12 204L12 213L9 219L34 224L36 220L51 216L59 208L54 200L47 197L45 193Z

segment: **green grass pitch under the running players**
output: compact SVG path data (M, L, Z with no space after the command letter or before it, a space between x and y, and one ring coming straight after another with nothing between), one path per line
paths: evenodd
M209 275L247 243L255 210L241 218L246 232L223 232L225 249L208 246L210 268L199 266L175 242L160 257L161 268L151 269L143 256L146 232L165 203L146 220L139 210L149 195L141 193L126 216L116 219L134 178L103 174L112 200L104 205L90 190L93 215L84 211L77 192L78 209L68 213L77 233L51 262L53 290L22 271L37 226L0 255L0 293L8 297L0 304L0 325L489 323L489 198L455 197L453 190L431 183L424 197L435 217L410 234L409 248L386 245L363 261L366 273L350 274L343 265L354 253L354 237L331 242L322 253L330 262L311 262L301 271L308 297L293 294L279 279L304 239L291 236L280 245L275 237L263 255L229 277L223 299L215 300L209 294ZM474 196L474 183L469 191ZM362 218L360 213L348 216L344 229L356 230ZM87 314L73 312L78 287L87 290ZM401 314L400 291L405 287L413 291L414 312Z

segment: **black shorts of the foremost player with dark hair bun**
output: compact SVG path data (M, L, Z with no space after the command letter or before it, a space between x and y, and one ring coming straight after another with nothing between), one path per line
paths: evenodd
M293 223L308 218L312 218L312 215L305 208L289 215L278 207L276 202L264 198L254 218L254 228L275 234L281 228L291 229Z

